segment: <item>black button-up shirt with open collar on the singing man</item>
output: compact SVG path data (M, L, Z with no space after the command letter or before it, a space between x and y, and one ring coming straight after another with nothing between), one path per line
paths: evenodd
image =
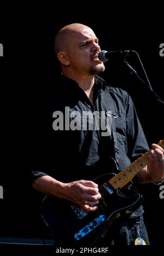
M36 100L37 107L36 111L33 110L31 142L32 171L35 178L49 174L60 181L69 182L77 179L92 179L103 173L114 172L110 168L110 161L108 162L110 157L115 158L113 136L104 137L101 127L95 129L95 114L93 114L95 112L106 113L108 110L102 93L106 86L102 78L95 77L92 106L78 84L62 75L54 88L44 91L40 97L41 100ZM122 170L149 150L149 147L131 97L119 88L110 86L107 88L113 99L115 115L118 117L115 119L119 148L118 168ZM92 129L89 130L88 120L87 123L84 122L85 124L81 125L82 129L81 127L78 130L68 129L69 125L66 124L68 113L66 114L65 107L69 114L73 113L69 124L76 117L74 111L77 111L80 117L83 117L83 113L89 112L93 122ZM60 119L56 110L63 113ZM104 122L107 122L106 116L104 119ZM72 124L75 127L76 123ZM60 130L56 131L54 127L57 125Z

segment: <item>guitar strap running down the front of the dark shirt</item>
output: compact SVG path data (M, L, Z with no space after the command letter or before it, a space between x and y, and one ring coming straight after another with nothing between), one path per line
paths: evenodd
M114 154L115 154L115 160L118 163L119 162L119 146L118 146L118 139L116 135L116 124L115 119L118 118L118 115L116 115L116 109L114 108L115 104L113 101L112 96L110 95L109 88L106 86L105 90L103 91L103 98L104 98L104 104L106 106L107 111L110 111L111 113L111 123L112 123L112 135L114 140Z

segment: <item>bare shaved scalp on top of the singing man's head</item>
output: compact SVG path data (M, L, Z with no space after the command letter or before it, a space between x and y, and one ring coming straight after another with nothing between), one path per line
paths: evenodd
M92 31L90 27L87 27L79 23L73 23L61 28L61 30L58 31L55 37L54 48L55 48L56 55L60 51L66 51L66 49L69 48L69 45L71 44L72 39L75 36L78 36L78 34L81 34L81 32L85 30Z

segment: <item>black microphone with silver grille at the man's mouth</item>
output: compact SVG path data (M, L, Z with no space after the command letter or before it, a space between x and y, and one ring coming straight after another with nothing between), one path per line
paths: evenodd
M104 51L102 50L99 54L98 54L98 59L106 62L107 60L110 59L110 57L116 57L116 59L122 59L122 57L126 57L127 55L129 55L130 50L124 50L124 51Z

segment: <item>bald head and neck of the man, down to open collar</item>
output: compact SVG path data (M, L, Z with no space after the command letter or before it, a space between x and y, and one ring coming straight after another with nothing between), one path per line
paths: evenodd
M95 33L82 24L63 27L55 38L55 53L63 74L78 83L92 104L95 75L105 69L98 59L100 51Z

